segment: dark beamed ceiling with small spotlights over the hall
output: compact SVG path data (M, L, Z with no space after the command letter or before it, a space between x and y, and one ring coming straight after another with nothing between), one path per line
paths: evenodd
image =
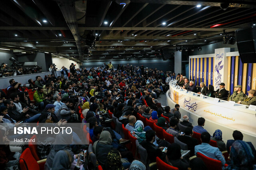
M0 48L78 62L150 59L161 57L164 48L174 52L220 42L226 33L256 23L253 0L225 1L226 10L220 8L223 0L130 1L125 6L111 0L0 1ZM100 37L93 48L86 45L90 31Z

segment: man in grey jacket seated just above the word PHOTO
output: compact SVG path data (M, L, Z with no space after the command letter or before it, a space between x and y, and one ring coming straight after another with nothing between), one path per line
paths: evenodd
M78 120L78 115L75 114L75 111L70 110L74 106L75 102L73 99L66 100L65 104L63 104L58 113L58 119L66 119L70 123L75 123Z

